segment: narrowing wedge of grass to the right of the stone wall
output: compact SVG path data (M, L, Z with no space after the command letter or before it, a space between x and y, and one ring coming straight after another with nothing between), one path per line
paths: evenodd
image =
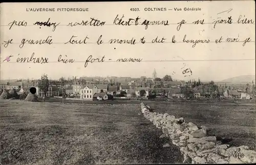
M246 145L256 151L255 105L148 103L153 111L168 113L187 122L210 128L209 135L232 138L227 144Z

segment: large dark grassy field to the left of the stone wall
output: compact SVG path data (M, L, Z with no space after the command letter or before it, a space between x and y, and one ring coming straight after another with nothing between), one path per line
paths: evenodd
M181 163L179 149L137 106L0 100L2 164ZM92 134L92 135L91 135ZM15 159L12 149L22 150Z

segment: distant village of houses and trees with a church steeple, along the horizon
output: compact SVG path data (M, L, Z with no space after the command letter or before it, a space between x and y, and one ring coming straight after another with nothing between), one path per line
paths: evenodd
M198 80L174 80L165 75L158 78L156 70L154 78L141 76L131 77L72 77L58 80L49 79L45 95L40 89L40 79L16 80L0 82L0 92L12 90L17 95L29 93L33 87L38 98L60 97L78 100L113 100L113 99L254 99L254 82L232 84L231 82L201 82Z

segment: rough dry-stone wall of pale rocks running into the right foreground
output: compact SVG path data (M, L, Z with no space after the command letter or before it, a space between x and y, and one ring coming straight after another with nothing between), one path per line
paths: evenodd
M256 163L256 152L248 146L229 147L217 141L216 136L208 136L205 126L198 127L175 118L169 114L151 112L150 106L141 103L144 117L157 128L162 129L163 136L178 147L184 156L184 163Z

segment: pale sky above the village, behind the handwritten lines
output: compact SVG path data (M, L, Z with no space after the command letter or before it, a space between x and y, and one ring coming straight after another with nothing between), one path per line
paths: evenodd
M42 74L48 74L52 79L61 76L122 76L122 77L152 77L154 69L157 76L172 75L175 79L202 79L223 80L239 75L255 75L255 24L236 23L239 16L255 21L255 9L253 2L130 2L118 3L69 3L69 4L1 4L1 43L12 39L8 47L1 44L0 79L13 78L40 78ZM243 4L242 4L243 3ZM211 6L210 8L208 6ZM137 6L140 12L132 12L131 8ZM27 12L28 8L89 8L89 12ZM166 8L167 11L148 12L144 8ZM174 11L174 8L199 7L201 11ZM232 8L231 12L224 12ZM56 10L55 9L55 10ZM221 13L221 14L219 14ZM169 25L113 25L117 15L123 20L139 16L140 22L168 20ZM214 28L212 22L216 19L226 19L231 16L233 24L217 24ZM103 26L67 26L69 22L81 22L97 18L105 21ZM53 27L33 25L36 21L60 23L53 32ZM177 22L184 19L177 31ZM197 19L204 19L205 24L191 24ZM7 26L8 23L26 21L27 26ZM186 40L207 40L209 43L183 42ZM49 37L51 36L51 37ZM72 36L75 40L83 40L88 37L86 44L64 44ZM101 37L102 44L96 42ZM172 43L175 36L176 43ZM216 39L222 36L223 42L216 43ZM44 40L52 38L52 44L24 44L20 48L23 39ZM146 43L140 39L144 37ZM152 43L153 39L164 43ZM239 38L240 42L225 42L228 37ZM250 42L243 46L244 40ZM136 44L110 44L110 39L135 39ZM47 64L17 63L18 58L31 57L48 58ZM19 55L18 55L19 54ZM58 58L73 59L74 63L64 64L58 62ZM8 59L9 56L10 59ZM104 62L84 63L90 59L102 59ZM136 58L141 62L115 62L118 59ZM7 60L6 60L7 59ZM5 60L5 61L4 61ZM10 61L9 61L10 60ZM3 62L4 61L4 62ZM7 62L9 61L9 62ZM187 69L188 73L184 70ZM184 72L183 72L184 71ZM191 71L191 72L190 72ZM185 74L184 74L185 73Z

